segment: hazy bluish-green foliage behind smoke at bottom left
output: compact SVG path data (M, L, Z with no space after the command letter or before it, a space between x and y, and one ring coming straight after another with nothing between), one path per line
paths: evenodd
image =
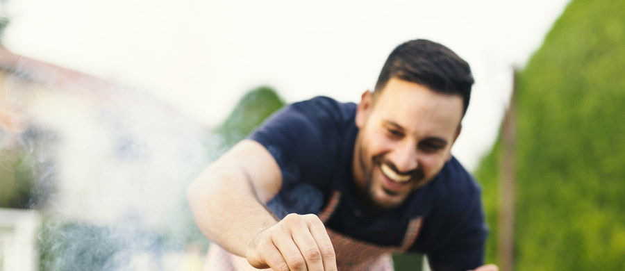
M158 235L133 222L103 227L47 217L38 241L42 271L124 270L138 255L158 263L168 249Z

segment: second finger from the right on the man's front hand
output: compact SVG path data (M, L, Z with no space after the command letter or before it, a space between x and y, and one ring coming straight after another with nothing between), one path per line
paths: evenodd
M313 238L313 234L310 233L310 218L306 216L300 217L301 220L293 222L291 227L292 237L295 245L297 245L301 255L306 261L306 268L309 271L323 271L324 262L322 254L319 251L317 241Z

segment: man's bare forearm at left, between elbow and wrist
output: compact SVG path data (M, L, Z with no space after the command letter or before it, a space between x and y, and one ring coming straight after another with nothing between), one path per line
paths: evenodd
M235 168L208 167L189 186L188 200L202 233L239 256L257 233L277 222L260 203L249 176Z

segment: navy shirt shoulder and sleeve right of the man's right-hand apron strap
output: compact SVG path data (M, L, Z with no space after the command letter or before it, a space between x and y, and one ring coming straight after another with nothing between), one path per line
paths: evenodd
M428 185L433 208L424 223L423 231L428 234L423 235L421 245L431 264L454 265L458 270L480 265L488 231L481 187L456 158Z

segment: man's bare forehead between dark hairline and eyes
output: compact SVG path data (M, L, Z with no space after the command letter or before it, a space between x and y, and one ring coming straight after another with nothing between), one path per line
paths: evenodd
M373 114L405 129L455 133L462 119L462 97L424 85L390 79L374 98Z

